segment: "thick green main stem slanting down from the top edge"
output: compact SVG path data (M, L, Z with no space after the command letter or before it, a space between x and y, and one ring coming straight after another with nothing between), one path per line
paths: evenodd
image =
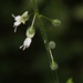
M51 52L50 52L50 48L49 48L49 40L48 40L48 37L46 37L46 32L45 32L43 23L41 22L41 18L40 18L40 14L39 14L39 11L38 11L38 7L37 7L35 0L32 0L32 3L33 3L34 12L37 13L37 18L38 18L38 23L40 25L41 35L42 35L42 39L44 41L45 49L48 51L48 55L49 55L50 63L51 63L51 56L50 56Z

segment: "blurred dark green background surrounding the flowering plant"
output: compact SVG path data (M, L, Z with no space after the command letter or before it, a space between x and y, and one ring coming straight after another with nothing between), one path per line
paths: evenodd
M71 76L74 83L83 83L83 1L38 0L38 4L41 14L62 22L55 28L43 20L49 40L56 43L52 51L59 64L60 83L65 83ZM31 0L0 0L0 83L53 83L37 22L31 46L25 51L19 49L32 18L13 33L14 20L11 14L22 14L27 10L32 12Z

